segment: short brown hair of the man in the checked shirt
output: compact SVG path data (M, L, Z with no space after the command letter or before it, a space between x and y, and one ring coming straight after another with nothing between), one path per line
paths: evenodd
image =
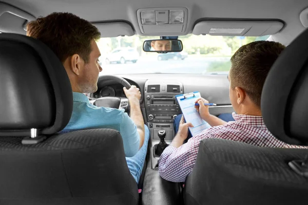
M265 40L239 48L231 57L230 87L244 89L249 98L261 107L261 93L265 78L285 46Z

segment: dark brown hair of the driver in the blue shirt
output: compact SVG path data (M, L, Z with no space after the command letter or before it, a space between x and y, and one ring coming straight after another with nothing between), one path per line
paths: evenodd
M30 22L27 36L41 40L62 63L74 54L88 63L91 40L99 40L101 33L90 22L72 13L54 12Z

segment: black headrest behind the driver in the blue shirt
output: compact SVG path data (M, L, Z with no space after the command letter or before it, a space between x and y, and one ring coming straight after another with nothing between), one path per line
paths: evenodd
M72 89L61 61L42 42L0 34L0 136L59 132L72 114Z

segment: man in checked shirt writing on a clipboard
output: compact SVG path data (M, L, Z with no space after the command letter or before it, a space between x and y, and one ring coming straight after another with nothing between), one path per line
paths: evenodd
M284 48L280 43L258 41L244 45L235 52L228 75L235 121L225 122L209 114L208 106L204 106L208 101L203 98L196 100L200 105L196 107L200 116L212 127L183 144L188 127L192 124L184 123L184 118L181 118L177 135L159 159L159 172L164 179L185 181L195 166L200 141L206 138L235 140L260 147L306 148L288 145L275 138L267 130L262 118L260 105L263 84L269 69Z

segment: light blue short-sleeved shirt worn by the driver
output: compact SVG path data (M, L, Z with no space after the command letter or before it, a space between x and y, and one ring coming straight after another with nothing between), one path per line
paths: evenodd
M137 154L140 137L136 125L124 109L94 106L86 95L77 92L73 92L73 99L72 116L61 132L98 128L118 130L122 135L125 156Z

